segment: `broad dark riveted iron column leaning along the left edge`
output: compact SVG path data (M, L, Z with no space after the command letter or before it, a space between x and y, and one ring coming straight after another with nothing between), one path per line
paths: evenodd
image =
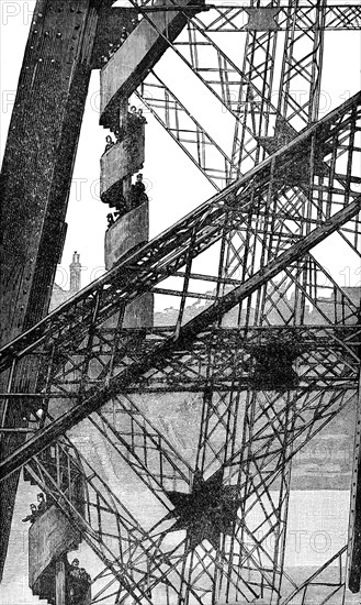
M2 245L0 344L47 311L65 239L72 166L92 69L99 0L37 0L11 118L1 173ZM14 381L35 381L24 366ZM3 385L2 385L3 386ZM27 402L30 405L30 402ZM25 404L24 404L25 405ZM21 406L0 403L3 427L24 425ZM1 457L24 433L1 437ZM0 575L19 473L4 483Z

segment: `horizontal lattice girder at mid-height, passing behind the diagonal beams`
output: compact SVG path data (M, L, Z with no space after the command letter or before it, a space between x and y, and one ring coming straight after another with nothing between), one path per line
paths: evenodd
M174 328L124 329L100 327L94 331L91 348L68 348L68 355L75 360L68 372L58 371L57 364L44 360L40 349L32 352L42 365L47 364L47 374L52 376L52 399L76 399L83 385L80 369L84 360L99 363L99 372L93 370L87 381L87 388L105 386L111 374L125 370L131 363L150 354L155 346L171 339ZM113 342L117 338L117 348ZM293 388L348 389L353 388L359 375L359 351L361 346L361 326L271 326L252 328L217 328L204 330L198 334L193 345L187 352L177 346L165 369L155 367L146 376L125 388L125 393L137 392L203 392L212 383L212 388L227 392L257 388L255 382L255 353L270 343L283 342L296 349L294 365L300 381ZM124 350L126 349L126 360ZM215 356L212 376L207 375L210 354ZM113 363L110 361L114 355ZM75 370L78 370L78 377ZM0 393L0 397L19 400L47 397L47 385L40 391Z

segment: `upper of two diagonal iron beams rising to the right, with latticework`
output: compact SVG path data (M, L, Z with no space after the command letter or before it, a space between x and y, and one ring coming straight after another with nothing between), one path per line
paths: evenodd
M150 284L153 287L159 280L173 274L184 262L184 251L187 253L194 228L198 230L194 256L210 248L222 237L225 215L229 211L228 196L235 195L235 201L237 200L239 204L237 206L239 212L248 212L255 205L255 201L249 199L250 190L253 186L258 190L268 187L274 164L279 165L280 169L294 164L297 154L303 156L307 153L307 146L311 145L313 135L316 135L316 143L320 142L318 135L321 140L324 131L329 125L339 122L350 108L359 106L360 102L361 92L302 132L291 143L247 173L245 177L201 205L139 251L129 254L104 276L83 288L74 299L61 305L44 320L7 344L0 351L0 370L5 370L14 361L14 358L20 359L29 354L48 338L53 338L58 345L59 341L72 338L72 334L69 334L71 330L82 330L83 332L83 324L88 321L87 314L93 312L89 308L92 297L99 290L102 290L102 296L98 320L102 320L106 319L109 314L114 310L115 301L119 306L120 301L133 300L136 296L148 292ZM356 194L352 195L356 196Z

